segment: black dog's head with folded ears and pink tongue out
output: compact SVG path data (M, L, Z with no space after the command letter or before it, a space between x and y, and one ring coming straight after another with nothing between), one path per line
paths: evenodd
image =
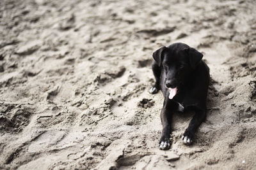
M202 53L184 43L174 43L168 47L163 46L153 53L154 60L165 71L166 87L169 90L175 89L172 92L174 96L177 87L191 76L191 72L196 69L202 57Z

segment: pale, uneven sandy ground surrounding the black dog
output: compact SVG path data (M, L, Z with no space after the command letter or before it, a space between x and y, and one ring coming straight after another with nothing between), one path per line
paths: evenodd
M0 169L255 169L256 1L0 1ZM195 143L152 53L182 42L211 69Z

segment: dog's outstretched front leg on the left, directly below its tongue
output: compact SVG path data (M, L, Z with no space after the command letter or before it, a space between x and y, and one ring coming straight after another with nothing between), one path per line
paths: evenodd
M176 110L178 106L177 103L171 101L168 97L165 97L164 106L161 110L161 122L163 125L162 136L159 141L159 148L161 150L168 150L170 148L172 112Z

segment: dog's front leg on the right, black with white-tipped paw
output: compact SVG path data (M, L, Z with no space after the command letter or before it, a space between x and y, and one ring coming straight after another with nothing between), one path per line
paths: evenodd
M198 127L204 122L206 117L206 111L196 111L194 117L188 125L188 128L182 136L183 143L189 145L193 142L195 132Z

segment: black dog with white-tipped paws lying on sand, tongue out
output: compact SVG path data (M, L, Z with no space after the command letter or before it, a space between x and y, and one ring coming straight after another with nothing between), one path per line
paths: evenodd
M184 43L163 46L153 53L152 69L156 83L150 88L150 93L156 94L161 90L164 95L161 110L163 131L159 141L161 150L170 148L173 111L195 111L182 136L185 144L192 143L196 129L205 120L210 75L202 57L202 53Z

